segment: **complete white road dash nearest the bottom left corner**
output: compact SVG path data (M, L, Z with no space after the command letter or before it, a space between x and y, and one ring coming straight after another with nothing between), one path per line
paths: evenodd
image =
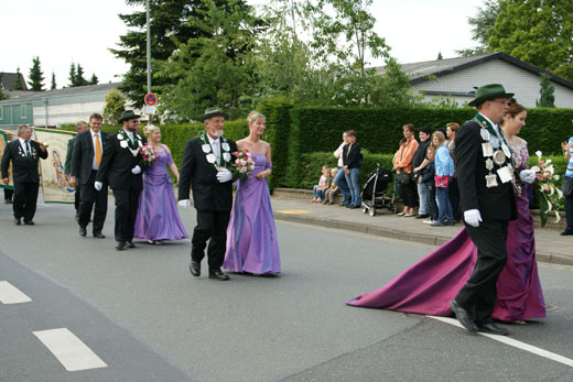
M95 352L66 328L33 331L67 371L107 368Z

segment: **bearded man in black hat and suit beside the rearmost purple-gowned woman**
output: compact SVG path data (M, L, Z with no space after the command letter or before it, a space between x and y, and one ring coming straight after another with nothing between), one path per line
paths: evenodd
M109 184L116 198L116 250L136 247L132 242L138 211L139 194L143 189L143 179L139 163L142 160L140 149L147 142L137 131L140 116L133 110L121 113L119 123L122 128L117 133L108 134L104 141L104 154L96 175L94 187L99 192L104 184Z

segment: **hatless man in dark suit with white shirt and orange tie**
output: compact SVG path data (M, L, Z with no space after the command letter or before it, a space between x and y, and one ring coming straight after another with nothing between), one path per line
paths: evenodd
M89 130L76 135L73 149L69 184L74 187L79 186L79 209L77 223L79 225L79 236L85 237L86 227L91 218L94 209L94 238L104 239L101 233L107 215L108 187L104 183L100 190L94 187L97 171L101 164L104 153L104 142L108 134L101 131L102 118L95 112L89 116ZM76 189L77 193L77 189ZM96 207L94 208L94 204Z

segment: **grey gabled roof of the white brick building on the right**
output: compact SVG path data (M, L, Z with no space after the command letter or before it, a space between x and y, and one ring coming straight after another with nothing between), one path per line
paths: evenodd
M429 76L442 77L448 74L467 69L476 65L487 63L493 59L501 59L508 64L518 66L519 68L533 73L536 75L548 73L533 65L522 62L521 59L512 57L504 52L486 53L471 57L456 57L446 59L424 61L421 63L400 64L400 67L402 72L410 76L410 84L417 85L429 80ZM383 66L376 67L375 69L380 74L385 72ZM553 83L560 84L573 90L573 81L570 81L563 77L555 76L551 73L548 74Z

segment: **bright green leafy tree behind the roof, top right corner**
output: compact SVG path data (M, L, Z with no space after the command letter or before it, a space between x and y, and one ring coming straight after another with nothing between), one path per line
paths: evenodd
M500 0L487 45L573 80L573 2Z

